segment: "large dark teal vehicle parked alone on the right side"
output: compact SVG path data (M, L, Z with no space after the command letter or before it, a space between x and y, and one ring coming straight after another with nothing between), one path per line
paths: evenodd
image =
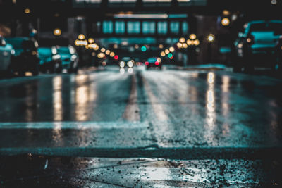
M256 20L246 23L234 42L233 70L251 71L255 67L278 69L277 44L282 35L282 20Z

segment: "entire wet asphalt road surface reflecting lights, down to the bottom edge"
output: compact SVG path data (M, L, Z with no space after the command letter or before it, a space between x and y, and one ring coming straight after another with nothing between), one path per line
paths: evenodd
M169 68L0 80L0 187L279 187L281 88Z

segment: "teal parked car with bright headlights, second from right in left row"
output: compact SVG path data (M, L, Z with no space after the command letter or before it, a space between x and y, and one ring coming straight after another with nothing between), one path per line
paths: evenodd
M55 46L52 47L39 47L40 65L39 70L42 73L60 73L62 68L61 55Z

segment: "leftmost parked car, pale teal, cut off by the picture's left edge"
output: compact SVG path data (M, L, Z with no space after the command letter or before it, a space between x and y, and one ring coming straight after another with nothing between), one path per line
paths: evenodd
M0 71L1 75L11 75L11 57L15 54L13 46L0 37Z

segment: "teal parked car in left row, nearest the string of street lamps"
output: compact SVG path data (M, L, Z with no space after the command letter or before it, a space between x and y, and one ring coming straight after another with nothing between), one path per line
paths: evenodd
M61 55L62 69L67 73L78 72L78 53L73 46L59 46L58 54Z

